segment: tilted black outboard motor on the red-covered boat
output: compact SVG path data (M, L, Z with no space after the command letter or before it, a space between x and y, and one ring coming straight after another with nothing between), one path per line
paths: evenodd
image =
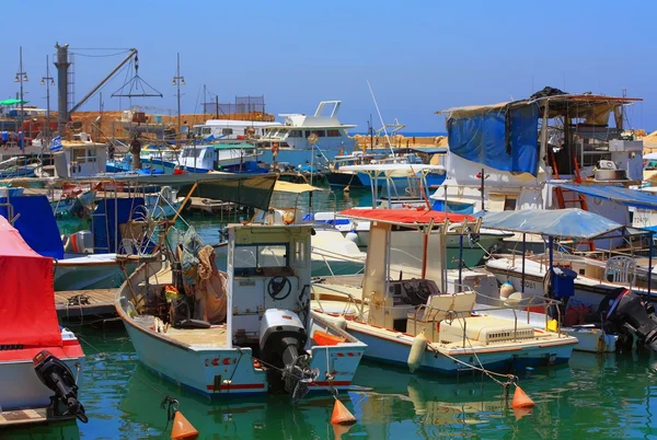
M50 396L49 410L55 416L76 416L85 424L88 418L84 407L78 402L78 385L67 364L48 350L39 351L32 361L38 379L55 392Z

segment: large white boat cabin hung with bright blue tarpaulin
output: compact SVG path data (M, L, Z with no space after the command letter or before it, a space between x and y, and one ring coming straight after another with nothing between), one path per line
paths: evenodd
M588 205L626 223L626 209L589 195L581 198L585 204L570 202L573 197L563 197L552 183L627 186L641 181L643 141L624 127L626 107L638 101L546 88L527 100L438 112L446 115L448 178L431 198L437 208L470 205L464 209L487 211Z

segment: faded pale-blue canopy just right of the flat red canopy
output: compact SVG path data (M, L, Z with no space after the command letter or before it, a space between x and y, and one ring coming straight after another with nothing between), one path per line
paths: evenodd
M482 227L579 240L595 239L624 228L615 221L577 208L486 212Z

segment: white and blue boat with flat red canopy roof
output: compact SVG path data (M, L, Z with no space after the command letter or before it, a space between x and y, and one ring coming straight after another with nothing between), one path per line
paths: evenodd
M508 373L568 361L576 338L537 329L520 319L510 322L475 313L473 289L459 285L454 293L447 293L446 231L425 234L422 230L449 221L460 222L460 233L465 234L472 218L437 211L407 216L407 211L388 210L387 218L372 222L360 289L341 286L339 279L313 287L318 314L345 320L347 332L368 345L366 357L408 364L412 371ZM396 225L419 229L416 233L425 236L419 277L408 277L403 264L395 264L391 231ZM336 313L339 304L333 304L332 311L324 309L323 299L335 301L341 294L342 312Z

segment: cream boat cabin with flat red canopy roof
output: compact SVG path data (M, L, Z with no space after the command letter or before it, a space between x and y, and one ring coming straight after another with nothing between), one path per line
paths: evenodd
M351 210L357 220L370 221L370 238L367 263L362 281L364 300L370 304L368 324L402 333L416 334L424 328L411 328L415 321L423 321L430 313L427 304L459 302L459 313L468 313L474 305L473 291L443 294L448 291L446 273L446 235L450 222L460 223L454 233L479 230L479 223L469 216L445 215L438 211L403 209L374 209L358 213ZM351 217L351 216L349 216ZM403 248L403 243L393 243L391 232L396 228L411 228L425 234L420 257L420 278L408 278L405 269L408 255L417 254L417 248ZM440 233L429 233L442 228ZM427 264L433 262L433 264ZM459 288L460 290L460 288ZM461 298L458 300L459 298ZM443 298L443 299L442 299ZM469 308L465 304L470 304ZM461 310L462 309L462 310ZM435 311L437 312L437 310ZM411 319L411 320L410 320ZM414 321L415 320L415 321ZM424 320L426 321L426 320ZM429 335L427 335L428 337Z

